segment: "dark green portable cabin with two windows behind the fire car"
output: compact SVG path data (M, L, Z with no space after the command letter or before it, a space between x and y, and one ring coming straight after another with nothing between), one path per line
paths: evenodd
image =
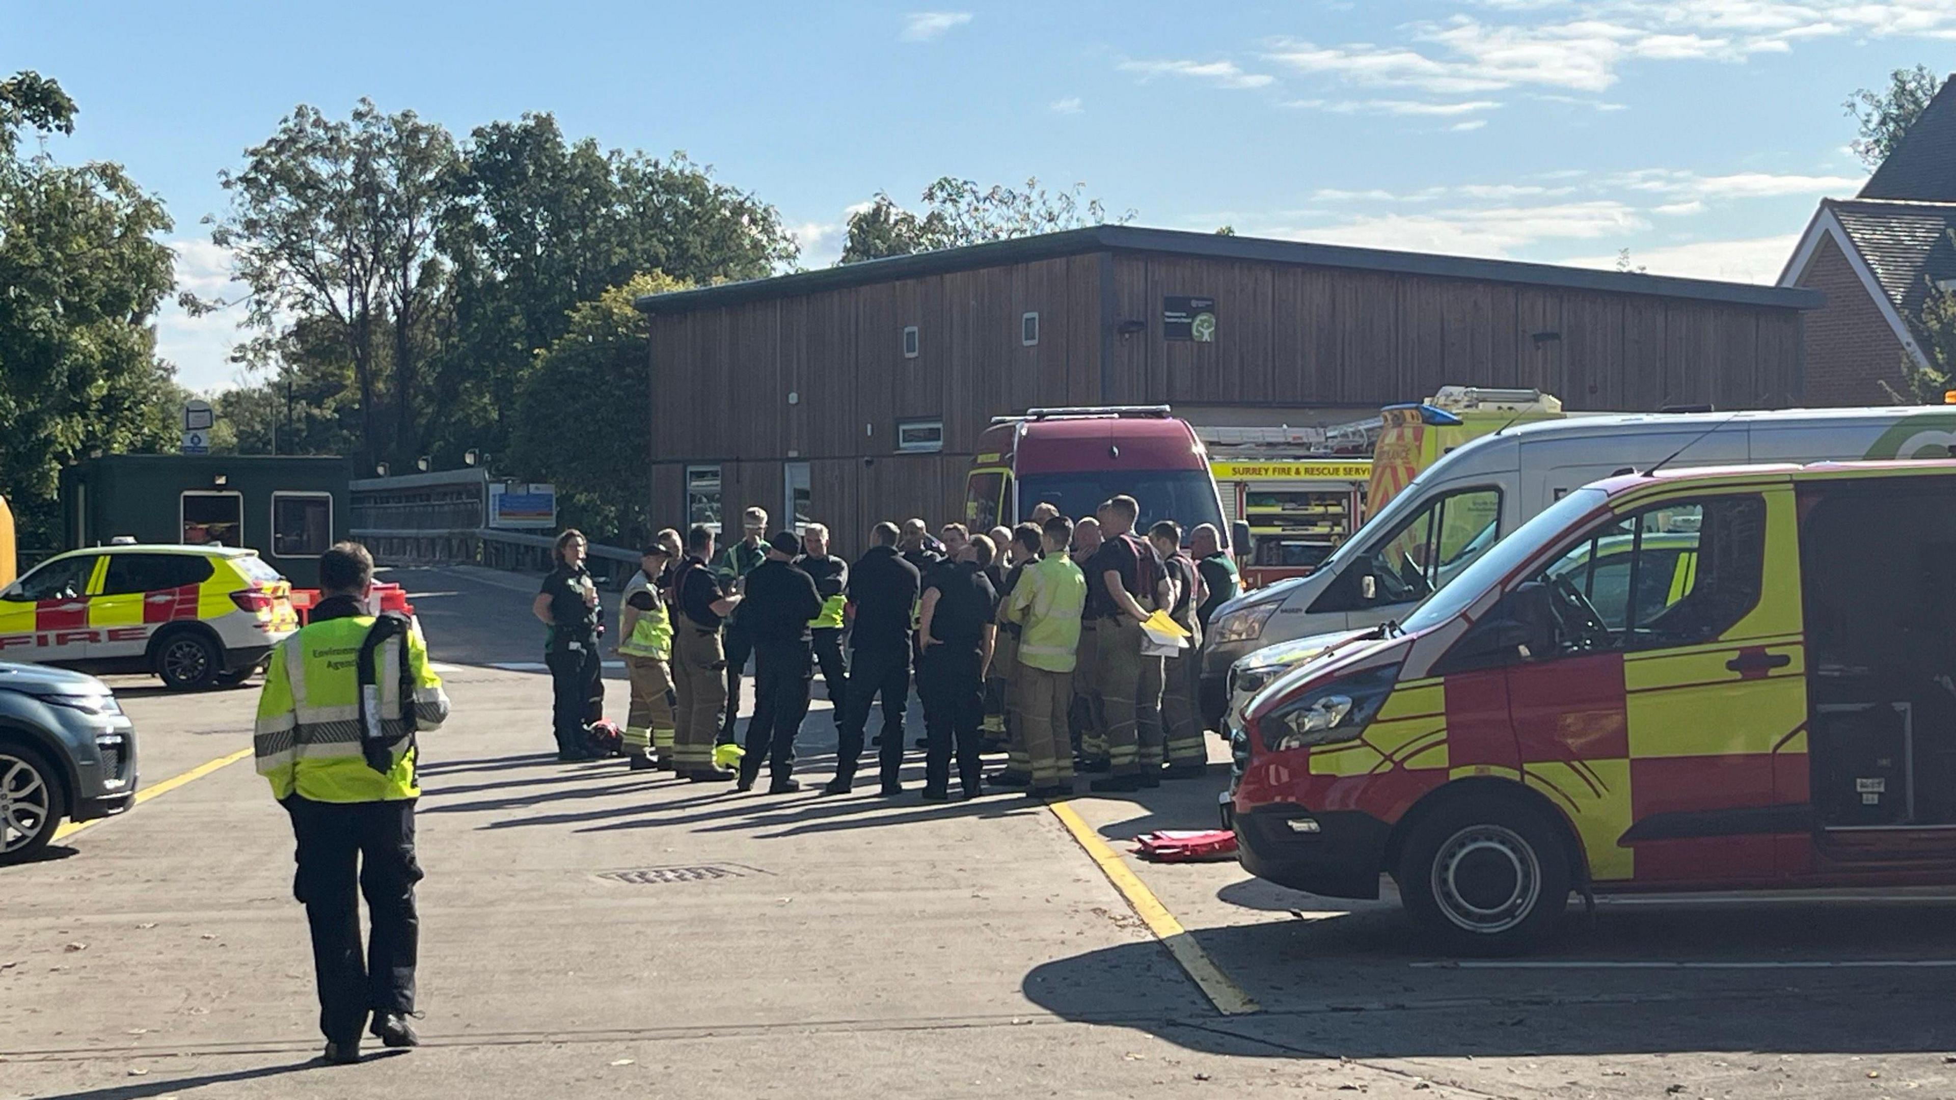
M61 472L67 548L137 542L250 546L293 587L346 538L352 460L272 454L108 454Z

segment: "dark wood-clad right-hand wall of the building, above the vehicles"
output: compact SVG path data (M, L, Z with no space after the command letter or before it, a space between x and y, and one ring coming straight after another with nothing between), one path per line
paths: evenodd
M1800 313L1526 284L1117 254L1119 403L1344 405L1520 386L1569 409L1760 409L1800 393ZM1217 299L1217 341L1160 339L1166 296Z

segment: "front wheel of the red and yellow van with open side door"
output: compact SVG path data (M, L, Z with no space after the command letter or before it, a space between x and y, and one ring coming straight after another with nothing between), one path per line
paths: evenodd
M1471 797L1414 826L1399 871L1406 912L1447 953L1514 955L1561 922L1569 853L1526 804Z

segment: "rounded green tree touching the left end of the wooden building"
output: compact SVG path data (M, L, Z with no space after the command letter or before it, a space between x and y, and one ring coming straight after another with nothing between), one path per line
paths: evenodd
M571 309L567 331L536 356L516 397L516 464L557 485L563 521L595 542L649 540L645 413L651 374L642 294L685 290L642 274ZM571 429L575 425L575 429Z

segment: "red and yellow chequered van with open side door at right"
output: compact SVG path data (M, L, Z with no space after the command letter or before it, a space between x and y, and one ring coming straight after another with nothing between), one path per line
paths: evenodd
M1232 722L1240 859L1514 951L1573 889L1956 883L1956 464L1567 493Z

